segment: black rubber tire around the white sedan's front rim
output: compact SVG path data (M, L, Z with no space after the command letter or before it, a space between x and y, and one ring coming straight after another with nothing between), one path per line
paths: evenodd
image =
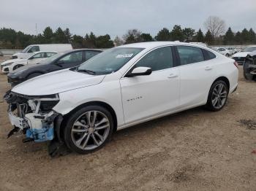
M92 147L91 149L90 148L82 149L80 147L82 147L81 145L85 144L85 142L86 142L86 147L90 147L90 143L95 144L94 140L95 140L96 136L94 133L91 133L89 130L91 128L91 126L90 126L90 128L82 128L82 126L75 125L76 122L79 122L79 119L84 119L83 125L88 125L88 122L86 122L87 119L83 118L83 115L87 114L88 112L99 112L100 114L104 114L105 117L108 118L108 125L109 125L108 129L109 130L108 130L108 135L105 135L104 141L100 141L99 137L97 136L98 141L99 141L99 145L97 147L95 147L95 148ZM90 119L91 119L91 116L90 116ZM99 120L97 120L97 122L99 123ZM92 122L90 124L92 124ZM96 122L95 122L95 124L96 124ZM102 106L85 106L81 109L78 109L77 111L75 111L74 113L72 113L68 116L68 118L64 124L64 133L63 133L64 142L67 144L67 147L69 147L69 149L71 149L74 152L78 152L80 154L87 154L90 152L94 152L94 151L102 148L110 140L110 138L113 134L113 125L114 125L113 116L110 114L110 112L107 109L105 109ZM80 143L79 143L80 147L78 147L76 145L78 143L78 140L74 140L75 136L73 134L74 132L72 132L72 130L74 130L73 127L75 127L75 126L78 127L79 130L87 129L87 131L84 134L83 133L75 134L75 136L78 136L78 140L81 140L84 137L83 141L80 141ZM75 129L77 130L78 128L75 128ZM95 130L95 131L97 131L97 133L99 133L99 130ZM87 133L87 136L84 136L86 133ZM94 139L92 136L94 136ZM76 142L76 144L75 144L75 142Z

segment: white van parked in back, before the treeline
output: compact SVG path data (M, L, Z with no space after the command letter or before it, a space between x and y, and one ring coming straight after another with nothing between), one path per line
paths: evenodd
M72 50L72 45L71 44L31 44L21 52L18 52L12 55L12 59L29 58L29 56L31 56L33 52L39 52L39 51L63 52L66 50Z

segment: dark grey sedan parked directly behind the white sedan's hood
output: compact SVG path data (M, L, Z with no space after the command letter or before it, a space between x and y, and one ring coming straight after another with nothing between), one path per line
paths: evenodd
M83 63L100 52L102 52L102 50L92 49L75 49L59 52L41 63L23 66L20 69L10 72L7 75L8 82L13 87L27 79L31 79L42 74L78 66L80 63Z

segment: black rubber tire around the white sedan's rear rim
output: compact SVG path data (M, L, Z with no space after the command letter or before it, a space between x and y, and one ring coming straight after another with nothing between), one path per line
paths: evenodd
M213 104L213 98L217 98L217 96L214 95L214 90L216 90L215 88L219 87L219 85L221 85L221 84L223 85L223 88L226 90L227 93L226 93L225 100L222 101L222 106L217 107L217 106L214 106L214 104ZM227 83L224 82L223 80L217 80L216 82L214 82L213 85L211 85L211 89L208 94L206 109L213 111L213 112L218 112L225 106L225 104L227 102L227 95L228 95Z

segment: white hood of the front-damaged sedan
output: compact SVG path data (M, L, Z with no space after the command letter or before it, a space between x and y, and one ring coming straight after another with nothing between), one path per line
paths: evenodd
M50 95L97 85L105 75L94 76L64 69L27 80L12 88L12 92L23 95Z

